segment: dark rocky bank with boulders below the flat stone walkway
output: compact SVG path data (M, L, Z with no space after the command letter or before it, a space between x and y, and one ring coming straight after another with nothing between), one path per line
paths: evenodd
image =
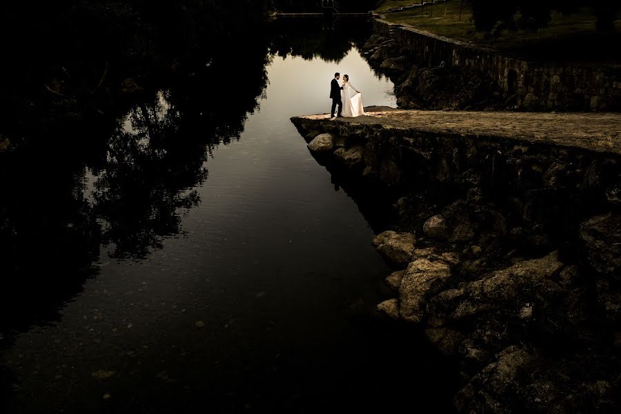
M394 297L377 309L457 358L457 410L616 412L621 151L371 111L292 121L333 174L390 189L395 219L373 244L395 266Z

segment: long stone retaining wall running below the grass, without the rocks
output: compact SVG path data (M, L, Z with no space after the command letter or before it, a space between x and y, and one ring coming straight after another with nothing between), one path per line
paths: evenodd
M554 66L513 59L374 14L374 31L396 39L421 63L493 79L525 110L621 110L621 68Z

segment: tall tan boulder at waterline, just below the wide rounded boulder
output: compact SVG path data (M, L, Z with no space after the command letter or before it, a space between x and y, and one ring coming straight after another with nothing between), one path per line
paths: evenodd
M451 268L442 262L416 259L409 264L399 288L399 313L402 318L409 322L422 322L427 297L438 293L449 277Z

